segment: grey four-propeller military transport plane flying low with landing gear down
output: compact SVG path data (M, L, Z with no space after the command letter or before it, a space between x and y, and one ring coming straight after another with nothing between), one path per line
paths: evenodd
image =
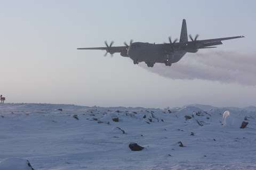
M145 62L148 67L153 67L155 63L164 63L166 66L171 66L172 63L180 61L180 59L186 53L196 53L198 49L205 48L216 48L216 45L221 45L222 40L243 38L244 36L236 37L226 37L226 38L217 38L217 39L205 39L197 40L198 35L193 37L189 35L191 41L188 41L187 35L187 24L186 20L182 21L180 41L175 39L172 41L169 37L169 43L164 44L150 44L150 43L140 43L130 41L130 44L124 43L125 46L116 46L113 47L113 41L108 45L105 41L106 47L94 47L94 48L77 48L77 49L101 49L106 50L107 56L108 53L113 56L114 53L120 53L123 57L130 57L133 60L134 64L139 64L140 62Z

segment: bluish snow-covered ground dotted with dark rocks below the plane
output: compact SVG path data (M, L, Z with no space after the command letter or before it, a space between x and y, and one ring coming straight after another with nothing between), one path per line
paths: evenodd
M256 107L189 105L170 111L0 105L0 169L10 160L29 160L41 170L256 169ZM225 111L230 115L223 120ZM249 124L240 129L244 120ZM145 149L131 151L130 142Z

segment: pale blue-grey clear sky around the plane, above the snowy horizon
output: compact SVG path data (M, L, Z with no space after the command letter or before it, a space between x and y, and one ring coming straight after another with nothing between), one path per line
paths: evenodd
M191 74L195 79L188 80L163 77L119 54L111 58L103 57L103 51L76 50L104 46L105 40L114 40L114 45L130 39L163 43L169 36L179 38L184 18L188 33L198 33L199 39L244 35L209 49L239 53L239 60L255 54L255 5L255 1L0 1L0 94L11 103L256 105L256 86L241 83L247 66L242 60L241 65L236 63L239 76L234 64L228 74L239 81L222 81L225 70L218 72L217 81L198 79L197 70ZM187 54L181 65L192 57ZM254 78L254 70L246 80Z

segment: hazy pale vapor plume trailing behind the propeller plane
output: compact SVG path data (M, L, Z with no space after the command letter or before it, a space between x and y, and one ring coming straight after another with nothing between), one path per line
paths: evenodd
M256 85L256 56L254 53L237 52L187 53L178 63L171 67L155 64L147 67L150 72L170 79L201 79L223 83Z

